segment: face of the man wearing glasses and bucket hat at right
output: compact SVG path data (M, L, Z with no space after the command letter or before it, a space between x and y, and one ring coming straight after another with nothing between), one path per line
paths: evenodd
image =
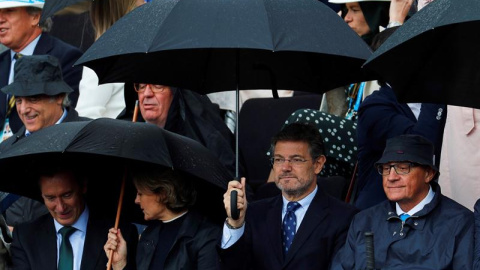
M410 163L390 162L384 165L394 164L408 168ZM410 172L407 174L398 174L392 168L389 174L383 175L383 189L390 201L397 202L402 210L407 212L427 196L430 189L429 183L434 176L435 172L424 166L410 167Z

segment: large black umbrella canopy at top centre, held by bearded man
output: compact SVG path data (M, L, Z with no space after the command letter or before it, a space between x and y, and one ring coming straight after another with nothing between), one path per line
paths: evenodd
M76 64L100 83L321 93L364 80L370 54L316 0L164 0L122 17Z

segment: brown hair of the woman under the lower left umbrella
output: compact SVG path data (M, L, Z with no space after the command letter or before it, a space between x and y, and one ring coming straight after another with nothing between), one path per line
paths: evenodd
M160 203L175 212L182 212L195 204L197 192L191 181L177 171L160 167L137 167L131 171L138 190L160 195Z

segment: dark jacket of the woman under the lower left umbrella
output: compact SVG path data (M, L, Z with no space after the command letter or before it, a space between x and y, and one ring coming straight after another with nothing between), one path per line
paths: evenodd
M142 232L137 249L137 269L148 270L158 244L159 224L148 226ZM220 227L200 214L189 211L165 260L165 270L218 269L215 245Z

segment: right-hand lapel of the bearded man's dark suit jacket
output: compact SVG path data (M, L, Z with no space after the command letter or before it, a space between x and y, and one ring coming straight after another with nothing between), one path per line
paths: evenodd
M298 228L295 238L293 239L290 251L284 261L284 266L287 265L295 254L301 249L305 242L310 238L312 232L320 226L321 222L327 217L328 214L328 198L323 192L318 189L317 194L312 200L312 203L308 207L307 213L303 218L300 227ZM281 253L280 253L281 254Z

